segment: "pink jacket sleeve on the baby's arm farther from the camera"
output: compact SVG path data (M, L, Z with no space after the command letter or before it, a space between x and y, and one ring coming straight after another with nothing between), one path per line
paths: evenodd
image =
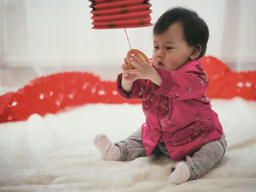
M122 74L118 74L116 88L120 96L122 96L124 99L142 99L146 80L135 80L132 86L132 92L127 93L123 88L121 88L121 79Z

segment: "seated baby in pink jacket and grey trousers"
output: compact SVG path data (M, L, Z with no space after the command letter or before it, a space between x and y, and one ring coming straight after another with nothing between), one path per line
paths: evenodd
M142 99L146 123L115 144L98 134L94 145L103 159L130 161L163 153L177 161L167 177L174 184L196 180L217 164L227 142L206 97L209 82L200 58L207 42L208 26L192 10L175 7L157 20L153 65L135 56L124 58L117 78L121 96Z

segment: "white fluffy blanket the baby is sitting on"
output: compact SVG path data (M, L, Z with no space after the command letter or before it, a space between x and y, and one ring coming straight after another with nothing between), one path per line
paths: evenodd
M0 124L0 191L256 191L256 102L214 100L228 143L208 174L165 182L167 156L102 161L94 136L124 139L144 122L138 105L88 104L57 115Z

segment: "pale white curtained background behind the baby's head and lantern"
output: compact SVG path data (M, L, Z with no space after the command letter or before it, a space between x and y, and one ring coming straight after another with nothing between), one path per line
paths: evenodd
M124 29L91 29L87 0L0 0L0 65L43 67L116 65L129 44ZM165 10L184 6L206 20L210 39L206 55L234 70L256 69L255 0L151 0L151 22ZM149 58L152 27L128 28L133 48Z

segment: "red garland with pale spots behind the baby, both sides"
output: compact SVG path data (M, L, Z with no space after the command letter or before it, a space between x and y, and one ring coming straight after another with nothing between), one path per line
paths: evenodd
M232 72L222 61L204 57L210 98L240 96L256 101L256 71ZM0 96L0 123L26 120L29 115L56 113L80 104L139 104L140 100L122 99L115 81L103 81L89 72L63 72L31 80L16 92Z

